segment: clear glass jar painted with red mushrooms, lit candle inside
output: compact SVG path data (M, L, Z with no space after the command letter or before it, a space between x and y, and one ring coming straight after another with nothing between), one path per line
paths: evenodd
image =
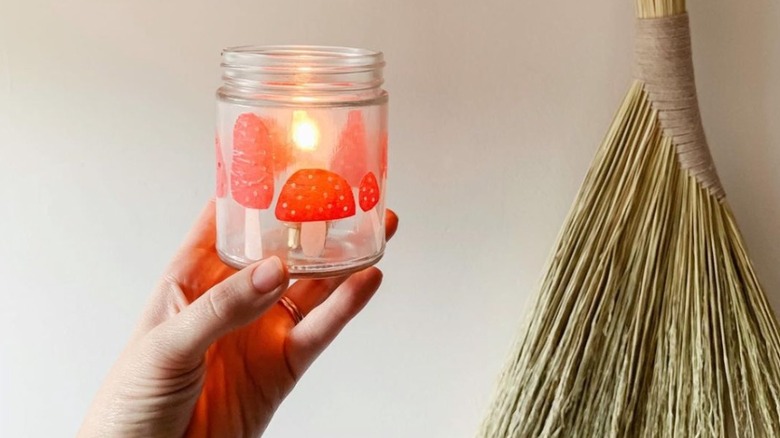
M269 256L293 278L354 272L385 247L381 52L235 47L217 92L217 251Z

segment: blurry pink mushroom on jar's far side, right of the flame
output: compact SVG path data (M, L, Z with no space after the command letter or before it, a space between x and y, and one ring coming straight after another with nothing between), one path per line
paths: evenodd
M330 168L346 178L351 186L357 187L363 173L368 169L367 154L363 113L360 110L352 110L347 115L347 125L333 152Z

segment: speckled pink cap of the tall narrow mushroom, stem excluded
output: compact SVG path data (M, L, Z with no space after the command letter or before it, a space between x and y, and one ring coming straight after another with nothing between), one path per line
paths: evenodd
M233 199L246 208L264 210L274 197L274 162L271 136L254 113L238 116L233 128L233 163L230 189Z

